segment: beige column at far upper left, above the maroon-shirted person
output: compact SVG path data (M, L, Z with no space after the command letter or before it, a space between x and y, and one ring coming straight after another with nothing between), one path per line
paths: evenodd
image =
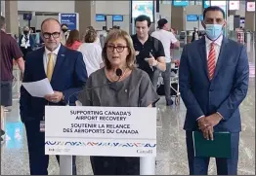
M6 32L19 34L18 1L5 1Z

